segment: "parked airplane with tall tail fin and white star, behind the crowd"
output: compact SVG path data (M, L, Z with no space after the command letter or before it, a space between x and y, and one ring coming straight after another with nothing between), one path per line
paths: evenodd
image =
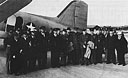
M21 2L23 2L23 1L21 1ZM30 2L30 1L28 1L28 2ZM19 6L19 5L17 5L17 6ZM1 10L3 10L3 9L0 6L0 11ZM8 9L8 10L13 11L12 8ZM10 12L9 14L7 14L7 13L8 13L8 11L6 11L6 14L3 15L3 19L0 19L0 22L5 20L5 18L7 18L9 15L13 14L14 11ZM8 20L10 20L10 19L11 19L11 21L14 20L13 21L13 23L14 23L15 21L17 21L16 17L18 17L18 16L23 18L23 26L25 24L27 24L28 22L32 22L35 24L35 26L37 28L39 28L41 26L45 26L47 29L49 29L49 28L63 29L63 28L67 28L67 27L71 27L71 28L79 27L79 28L83 29L83 28L87 27L87 13L88 13L88 5L83 1L74 0L74 1L71 1L57 17L47 17L47 16L30 14L30 13L26 13L26 12L17 12L7 19L6 24L4 21L0 23L0 30L5 31L6 25L9 24ZM1 14L2 13L0 13L0 16L1 16ZM6 15L8 15L8 16L6 16ZM11 25L11 26L15 26L15 25ZM6 37L5 34L3 34L3 35L0 34L0 38L5 38L5 37Z

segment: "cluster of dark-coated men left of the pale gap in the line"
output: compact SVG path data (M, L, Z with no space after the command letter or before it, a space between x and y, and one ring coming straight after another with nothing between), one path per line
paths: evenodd
M46 68L48 40L44 29L10 30L9 36L4 40L8 74L20 75Z

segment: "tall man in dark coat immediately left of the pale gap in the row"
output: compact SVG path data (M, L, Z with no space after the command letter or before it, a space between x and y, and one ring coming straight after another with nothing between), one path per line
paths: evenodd
M45 27L41 27L37 33L38 38L38 66L39 69L47 67L47 50L48 50L48 33L46 32Z

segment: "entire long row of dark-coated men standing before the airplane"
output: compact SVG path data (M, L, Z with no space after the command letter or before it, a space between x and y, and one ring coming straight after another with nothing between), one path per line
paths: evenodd
M17 29L10 31L9 35L5 39L9 74L19 75L47 68L48 51L51 52L53 68L102 62L125 65L127 41L123 33L117 34L116 31L54 28L48 32L42 26L35 31ZM103 60L103 54L106 60Z

